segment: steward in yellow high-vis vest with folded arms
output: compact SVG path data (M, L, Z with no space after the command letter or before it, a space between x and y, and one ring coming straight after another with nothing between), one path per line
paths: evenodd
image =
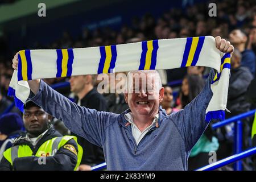
M32 101L24 105L27 134L3 153L0 170L76 170L82 148L76 137L61 135L49 123L51 115Z

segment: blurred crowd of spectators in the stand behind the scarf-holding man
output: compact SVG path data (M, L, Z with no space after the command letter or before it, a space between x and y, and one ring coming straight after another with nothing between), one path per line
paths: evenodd
M171 9L165 11L160 18L155 18L150 14L143 17L132 18L131 24L123 25L119 31L109 27L89 31L84 29L79 38L74 39L69 32L63 31L63 36L59 40L42 46L39 43L33 48L80 48L93 46L108 46L110 44L122 44L140 42L152 39L186 38L191 36L206 36L229 40L235 50L231 60L231 76L229 83L228 106L231 113L226 112L226 118L245 113L255 109L246 99L246 91L251 80L255 77L256 65L256 5L254 1L230 1L218 2L216 17L208 16L205 3L189 6L186 9ZM1 38L0 42L7 46L7 39ZM0 48L0 51L5 48ZM3 54L4 55L4 54ZM15 52L13 52L15 55ZM7 97L9 82L13 74L11 68L11 56L0 57L0 115L11 105L12 98ZM193 98L200 93L205 83L205 76L209 73L208 68L189 67L160 71L163 76L165 88L162 107L168 114L183 109ZM97 92L97 76L75 76L69 78L49 78L44 79L47 84L52 85L61 81L70 81L71 88L58 90L65 96L73 99L81 106L91 109L108 110L114 113L121 113L128 108L124 101L123 94L99 94ZM171 81L182 80L180 86L170 85ZM176 97L173 93L177 92ZM17 109L12 112L19 113ZM0 119L1 121L1 119ZM243 150L252 147L251 126L253 119L246 118L243 121ZM53 124L63 134L70 134L61 125L61 121L53 119ZM3 133L0 125L0 132ZM203 167L208 163L209 152L216 151L217 159L223 159L232 155L233 152L233 125L213 130L209 126L199 142L191 152L188 162L188 169ZM13 133L10 131L9 133ZM9 135L6 133L6 135ZM77 136L82 147L86 148L80 170L88 170L90 166L104 162L104 155L101 148L93 146L85 139ZM1 142L1 141L0 141ZM2 143L0 143L1 146ZM90 148L88 150L88 148ZM243 160L243 169L253 169L253 160L248 158ZM232 170L232 166L222 168ZM255 168L254 168L255 169Z

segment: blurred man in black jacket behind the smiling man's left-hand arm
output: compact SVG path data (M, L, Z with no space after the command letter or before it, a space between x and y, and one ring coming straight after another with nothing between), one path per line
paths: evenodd
M69 80L71 92L75 93L77 105L96 109L98 111L106 111L107 104L105 98L97 92L94 85L96 84L95 75L79 75L72 76ZM73 134L77 137L77 142L82 146L84 153L82 155L80 171L88 171L91 166L105 162L102 148L88 142L88 140Z

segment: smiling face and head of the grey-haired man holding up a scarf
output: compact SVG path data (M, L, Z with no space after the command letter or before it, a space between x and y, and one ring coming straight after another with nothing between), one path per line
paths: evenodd
M154 117L158 113L159 104L164 96L164 88L161 86L159 89L159 75L143 71L135 72L135 74L138 75L138 79L135 81L135 78L132 78L129 81L125 100L133 115Z

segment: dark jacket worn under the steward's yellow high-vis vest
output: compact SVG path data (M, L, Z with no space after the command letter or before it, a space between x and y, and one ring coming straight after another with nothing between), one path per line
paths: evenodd
M53 127L51 127L46 134L39 140L36 146L32 146L32 144L25 139L17 139L14 141L13 146L27 144L30 146L31 150L33 151L33 155L36 154L39 147L49 139L55 137L61 137L62 135L56 131ZM24 136L23 136L24 137ZM75 147L76 151L78 151L77 143L74 139L69 140L66 144L71 144ZM16 158L13 162L13 166L9 163L7 159L4 157L0 162L0 170L15 170L15 171L32 171L32 170L73 170L77 164L77 155L73 152L69 151L64 147L60 147L60 149L56 152L53 156L46 157L46 164L39 164L38 157L36 156L28 156L23 158Z

